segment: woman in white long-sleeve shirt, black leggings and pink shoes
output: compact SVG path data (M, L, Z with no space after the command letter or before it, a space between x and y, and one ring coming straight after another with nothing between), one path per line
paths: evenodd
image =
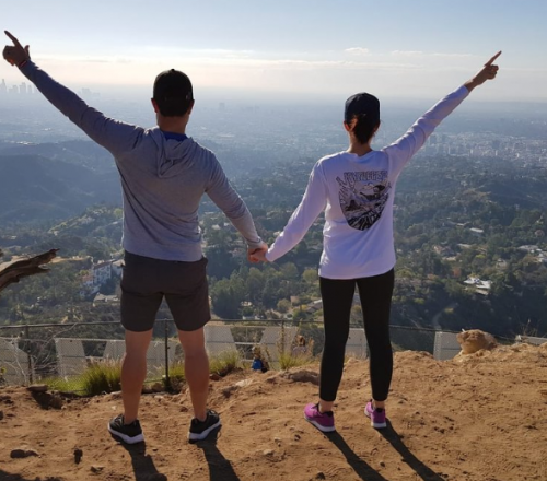
M344 128L349 149L319 160L300 206L268 253L254 260L275 261L292 249L325 210L319 285L325 347L321 363L319 401L304 417L323 432L335 431L333 406L340 384L350 309L359 289L370 349L372 398L364 408L373 427L386 426L385 401L393 372L389 309L394 286L393 202L395 184L406 163L437 126L476 86L496 78L494 55L459 89L449 94L395 143L374 151L371 140L380 127L380 102L359 93L346 102Z

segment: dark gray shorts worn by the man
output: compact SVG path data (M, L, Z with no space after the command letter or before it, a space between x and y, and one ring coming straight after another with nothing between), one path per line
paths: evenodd
M121 325L130 331L152 329L165 297L176 327L193 331L211 318L207 259L160 260L126 251L121 277Z

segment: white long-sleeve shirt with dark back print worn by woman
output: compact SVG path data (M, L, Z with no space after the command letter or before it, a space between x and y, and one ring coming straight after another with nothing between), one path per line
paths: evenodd
M319 275L359 279L395 266L393 202L406 163L469 94L465 86L438 102L396 142L359 156L339 152L321 159L300 206L266 254L275 261L291 250L325 210Z

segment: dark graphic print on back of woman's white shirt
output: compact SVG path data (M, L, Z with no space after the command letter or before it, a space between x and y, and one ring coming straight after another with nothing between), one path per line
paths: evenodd
M345 172L340 186L340 208L348 224L359 231L371 228L382 216L392 185L387 171Z

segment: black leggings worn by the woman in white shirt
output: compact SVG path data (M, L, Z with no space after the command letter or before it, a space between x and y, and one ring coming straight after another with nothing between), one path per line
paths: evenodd
M364 333L370 351L372 397L376 401L387 399L393 373L389 310L394 282L393 269L385 274L371 278L350 280L319 278L325 322L319 397L324 401L334 401L340 385L356 284L361 297Z

